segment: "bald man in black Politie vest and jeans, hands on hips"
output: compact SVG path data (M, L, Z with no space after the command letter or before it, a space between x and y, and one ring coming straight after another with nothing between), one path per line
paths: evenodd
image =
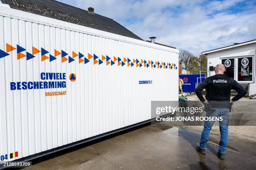
M205 104L207 117L222 117L220 124L220 143L218 158L225 159L225 151L228 143L228 121L230 106L233 101L239 100L246 95L247 91L233 78L223 75L225 66L218 64L215 67L215 75L206 78L195 90L197 97ZM202 95L202 90L206 89L206 100ZM231 89L234 89L238 94L230 100ZM210 109L209 109L210 107ZM214 121L205 121L204 129L201 135L200 146L196 150L205 155L206 143L209 139L210 130Z

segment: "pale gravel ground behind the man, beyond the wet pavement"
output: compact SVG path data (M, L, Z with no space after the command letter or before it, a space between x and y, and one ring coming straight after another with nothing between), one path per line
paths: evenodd
M232 98L232 97L231 97ZM195 94L187 96L189 101L198 101ZM244 120L250 120L243 126L229 126L229 138L243 140L249 143L256 143L256 99L243 97L239 102L235 102L230 112L230 118L242 117ZM175 122L165 121L165 124L175 126ZM216 123L215 123L216 124ZM246 126L250 125L250 126ZM203 126L180 126L187 130L202 132ZM214 125L211 130L212 135L220 135L219 126Z

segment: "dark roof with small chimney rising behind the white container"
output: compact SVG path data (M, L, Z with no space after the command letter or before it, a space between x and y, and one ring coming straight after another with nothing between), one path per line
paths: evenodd
M98 14L90 14L87 10L82 10L71 5L64 4L56 0L0 0L3 4L8 4L10 8L42 15L57 20L62 20L85 27L95 28L106 32L111 32L126 37L143 40L130 30L126 29L111 18Z

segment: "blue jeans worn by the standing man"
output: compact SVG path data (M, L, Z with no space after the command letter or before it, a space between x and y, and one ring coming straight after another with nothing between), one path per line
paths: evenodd
M225 153L228 144L228 121L229 121L229 109L228 108L214 108L215 111L206 112L205 117L222 117L223 120L219 121L220 124L220 143L219 152ZM204 130L202 131L200 148L205 149L206 143L209 139L212 125L215 121L205 121Z

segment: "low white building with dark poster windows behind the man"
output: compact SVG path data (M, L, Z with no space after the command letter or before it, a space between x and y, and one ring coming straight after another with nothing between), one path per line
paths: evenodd
M207 55L208 76L215 75L214 67L223 63L226 67L225 75L246 87L249 96L256 94L256 40L205 51L202 54Z

